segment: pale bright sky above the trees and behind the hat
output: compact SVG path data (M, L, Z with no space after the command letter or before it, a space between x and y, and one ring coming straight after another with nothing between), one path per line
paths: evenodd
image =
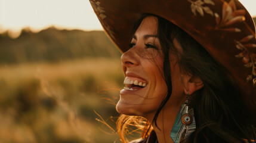
M240 0L256 16L256 0ZM0 32L24 27L38 31L60 29L102 30L88 0L0 0Z

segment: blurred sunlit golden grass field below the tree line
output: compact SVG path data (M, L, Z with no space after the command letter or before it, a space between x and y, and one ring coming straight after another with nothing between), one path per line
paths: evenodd
M1 65L0 142L120 142L123 80L118 58Z

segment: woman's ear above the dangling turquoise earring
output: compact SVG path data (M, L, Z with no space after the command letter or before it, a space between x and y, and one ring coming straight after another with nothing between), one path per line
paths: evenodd
M203 88L203 82L198 76L183 76L184 93L187 95L193 94L195 91ZM187 93L189 91L189 93Z

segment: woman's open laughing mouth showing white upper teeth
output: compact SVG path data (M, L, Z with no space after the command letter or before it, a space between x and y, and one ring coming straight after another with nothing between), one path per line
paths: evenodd
M127 91L136 91L138 89L141 89L147 86L146 81L135 79L132 77L126 77L124 80L124 84L125 84L124 89Z

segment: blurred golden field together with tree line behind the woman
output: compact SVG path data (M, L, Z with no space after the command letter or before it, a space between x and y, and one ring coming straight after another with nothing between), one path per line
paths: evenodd
M120 57L103 31L2 33L0 142L121 142Z

